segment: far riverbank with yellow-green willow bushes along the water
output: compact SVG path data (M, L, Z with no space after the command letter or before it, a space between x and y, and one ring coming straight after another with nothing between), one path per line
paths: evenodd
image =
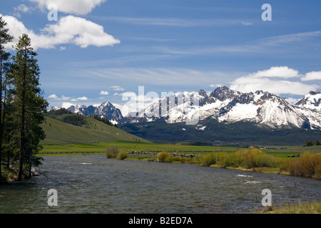
M220 167L231 170L250 172L263 172L279 175L292 175L321 179L321 153L320 152L264 152L257 148L231 150L220 148L213 152L180 151L129 151L116 148L117 152L108 158L117 158L121 152L122 160L141 160L148 162L183 163L205 167ZM106 150L107 151L107 150ZM159 156L163 154L163 158ZM41 156L48 155L106 155L106 152L44 152Z

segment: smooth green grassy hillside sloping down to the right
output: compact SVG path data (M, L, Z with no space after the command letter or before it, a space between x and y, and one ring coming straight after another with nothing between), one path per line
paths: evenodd
M66 118L67 117L67 118ZM47 115L42 125L46 139L42 145L91 144L101 142L148 142L131 135L113 125L107 125L89 116L81 116L81 121L64 123L66 119L76 119L79 115ZM78 124L79 123L79 124ZM78 125L77 125L78 124Z

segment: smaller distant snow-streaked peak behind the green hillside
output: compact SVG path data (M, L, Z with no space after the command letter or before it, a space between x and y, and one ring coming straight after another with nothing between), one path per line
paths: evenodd
M98 115L111 121L113 124L123 120L121 110L116 108L112 103L105 101L101 105L71 105L67 110L71 113L79 113L81 115Z

